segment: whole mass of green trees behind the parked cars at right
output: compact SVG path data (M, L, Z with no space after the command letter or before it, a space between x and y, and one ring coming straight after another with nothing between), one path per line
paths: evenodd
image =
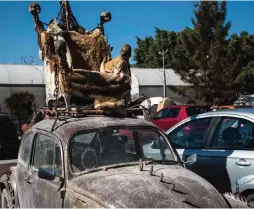
M155 28L155 36L137 38L136 67L161 68L158 54L168 49L165 67L173 68L191 84L192 98L207 103L232 103L239 94L254 93L254 35L243 31L228 35L225 1L201 1L194 5L193 28L173 32ZM186 89L172 90L186 95Z

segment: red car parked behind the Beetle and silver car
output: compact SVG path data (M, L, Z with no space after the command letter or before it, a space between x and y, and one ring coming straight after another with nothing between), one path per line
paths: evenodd
M206 105L172 105L157 112L152 122L167 131L185 118L208 111L211 111L211 108Z

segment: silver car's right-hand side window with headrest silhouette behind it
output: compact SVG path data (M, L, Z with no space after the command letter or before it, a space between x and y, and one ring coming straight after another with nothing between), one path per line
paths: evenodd
M246 119L222 117L211 141L211 148L254 149L254 124Z

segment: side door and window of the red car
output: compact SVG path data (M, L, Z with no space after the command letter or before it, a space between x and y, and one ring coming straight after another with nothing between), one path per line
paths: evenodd
M177 116L179 112L179 107L164 108L155 115L153 118L153 123L160 127L162 130L166 131L178 122Z

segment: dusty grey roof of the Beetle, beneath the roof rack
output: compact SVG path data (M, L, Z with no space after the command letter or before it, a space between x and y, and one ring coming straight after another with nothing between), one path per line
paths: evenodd
M86 116L82 118L72 117L65 120L44 119L33 125L32 130L39 129L46 132L51 132L53 126L53 133L59 136L59 138L66 143L72 135L76 134L79 131L89 131L113 126L138 126L159 129L153 123L148 122L144 119L107 116Z

